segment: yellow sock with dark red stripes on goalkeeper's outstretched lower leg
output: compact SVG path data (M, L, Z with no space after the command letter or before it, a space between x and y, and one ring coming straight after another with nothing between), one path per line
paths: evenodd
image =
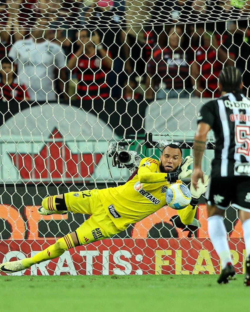
M74 243L71 238L71 236L68 234L66 236L63 236L62 238L59 238L55 244L47 247L41 252L38 252L35 256L32 258L25 258L22 260L22 265L25 268L29 268L33 264L40 263L46 260L54 259L59 256L61 256L64 251L73 248Z

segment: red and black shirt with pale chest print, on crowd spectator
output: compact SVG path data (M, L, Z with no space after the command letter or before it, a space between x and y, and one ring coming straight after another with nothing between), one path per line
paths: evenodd
M173 51L170 48L162 50L157 47L153 53L153 59L148 62L148 73L155 77L155 85L162 79L167 89L183 89L184 80L188 78L189 60L183 51Z

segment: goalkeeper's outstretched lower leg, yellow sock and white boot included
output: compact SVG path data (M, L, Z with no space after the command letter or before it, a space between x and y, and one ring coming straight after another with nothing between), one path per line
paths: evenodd
M69 233L61 238L59 238L55 244L48 246L41 252L38 252L35 256L30 258L25 258L22 260L8 261L0 264L0 271L4 273L13 273L25 270L43 261L51 260L61 256L64 251L79 246L80 242L78 240L76 232Z

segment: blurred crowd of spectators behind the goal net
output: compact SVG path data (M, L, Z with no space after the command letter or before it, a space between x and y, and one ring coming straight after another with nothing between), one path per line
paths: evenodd
M248 93L250 0L152 3L135 31L123 0L1 0L2 100L218 97L227 65Z

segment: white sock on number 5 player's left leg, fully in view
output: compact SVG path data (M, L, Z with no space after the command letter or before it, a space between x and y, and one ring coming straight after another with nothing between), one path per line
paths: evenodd
M232 263L223 217L216 215L207 218L207 227L213 247L221 259L221 266L223 269L228 262Z

